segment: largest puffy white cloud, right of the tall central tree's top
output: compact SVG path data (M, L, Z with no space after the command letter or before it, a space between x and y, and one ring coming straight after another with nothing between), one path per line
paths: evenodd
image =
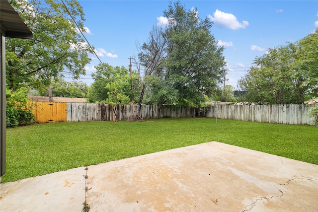
M215 24L225 26L233 30L245 29L246 26L249 25L248 21L242 21L241 23L239 23L237 17L234 14L222 12L218 9L215 12L213 12L213 15L214 17L211 15L208 15L208 17Z

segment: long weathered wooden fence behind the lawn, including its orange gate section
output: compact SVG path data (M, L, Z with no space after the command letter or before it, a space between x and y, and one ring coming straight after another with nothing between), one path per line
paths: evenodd
M312 118L309 111L317 104L292 105L214 105L201 110L201 116L207 118L232 119L251 122L266 122L292 125L310 125ZM49 103L37 102L34 113L39 123L46 122L79 122L111 121L111 105L86 103ZM118 105L117 120L128 120L136 117L138 105ZM142 105L143 119L156 118L155 105ZM195 107L162 106L160 118L197 117Z

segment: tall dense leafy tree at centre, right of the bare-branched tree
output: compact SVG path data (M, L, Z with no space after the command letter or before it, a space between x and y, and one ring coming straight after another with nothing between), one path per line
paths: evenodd
M179 91L180 103L200 106L226 72L224 49L211 34L213 23L207 17L199 18L196 8L186 10L179 1L170 2L163 13L169 21L166 74Z

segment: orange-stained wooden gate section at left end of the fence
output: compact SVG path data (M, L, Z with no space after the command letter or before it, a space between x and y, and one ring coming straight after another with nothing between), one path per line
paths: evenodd
M33 102L37 123L66 122L66 102Z

